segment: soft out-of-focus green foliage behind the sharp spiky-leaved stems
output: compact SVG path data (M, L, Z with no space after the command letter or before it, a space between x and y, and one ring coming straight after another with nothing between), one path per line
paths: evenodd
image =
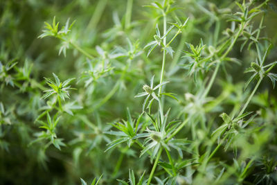
M131 21L128 22L128 1L0 1L1 67L3 69L7 64L8 69L8 62L10 66L17 62L10 70L2 70L0 76L0 184L80 184L80 177L91 182L94 177L100 177L102 174L101 183L116 184L116 179L128 178L129 168L134 170L136 175L151 169L148 157L138 157L139 148L127 150L125 145L122 145L104 152L110 140L110 136L104 133L111 129L107 123L126 119L127 107L132 116L137 117L141 113L143 100L134 96L141 91L143 84L148 84L154 74L158 77L161 69L162 54L159 49L155 50L150 58L146 57L147 51L143 51L145 44L152 41L156 24L162 25L161 15L159 11L145 6L154 1L133 1L132 17L129 17ZM182 57L185 54L181 52L188 51L185 42L195 46L202 39L206 48L215 46L220 37L228 32L226 28L231 27L231 22L226 21L226 14L237 11L238 7L233 1L227 0L176 0L172 7L175 9L169 13L168 22L176 22L175 17L179 17L183 22L189 17L185 30L172 42L175 54L172 59L168 56L168 61L171 61L166 64L166 80L170 80L167 88L177 94L179 102L169 99L166 100L168 103L165 106L172 107L171 118L181 119L184 112L188 111L186 106L191 100L188 93L196 94L204 84L204 80L195 82L193 77L188 78L184 69L188 59ZM260 32L260 37L269 38L273 48L267 60L274 61L277 56L276 1L269 1L263 11L265 28ZM107 60L112 69L99 78L96 73L88 77L86 71L89 70L89 62L85 55L71 46L66 51L66 57L62 53L59 55L62 46L59 39L38 39L37 37L42 34L44 21L51 23L54 16L60 25L64 25L69 18L71 22L75 20L70 38L96 57L92 60L92 65L95 61ZM253 19L253 27L259 26L261 17L262 15L258 15ZM215 36L217 21L220 22L220 28L219 34ZM170 35L172 36L172 33ZM128 53L128 39L135 49L134 53L131 53L134 54L132 57ZM197 128L200 153L204 152L206 146L203 144L201 147L201 143L205 143L205 138L222 123L218 115L221 112L230 112L235 106L240 107L245 96L249 94L249 89L243 91L243 82L248 78L243 71L255 60L256 51L253 51L255 47L245 49L246 46L240 52L242 42L235 44L231 51L232 57L238 58L240 65L227 64L225 69L220 71L215 87L209 94L211 97L217 97L213 100L219 102L216 103L215 100L216 106L211 105L208 116L203 115L208 120L208 129ZM104 54L99 53L99 47L105 51ZM112 58L116 54L120 57ZM93 66L93 69L96 67ZM43 141L33 143L37 138L35 133L42 130L35 120L47 109L47 100L41 98L43 91L48 88L44 77L53 79L52 73L59 76L62 82L68 78L76 78L71 83L76 90L70 92L70 100L79 107L73 107L74 116L66 112L62 114L57 134L59 138L64 139L66 147L62 147L61 150L55 146L45 147L48 144ZM93 80L89 81L92 77ZM80 107L82 109L79 109ZM265 129L265 132L262 132L264 135L257 134L261 142L260 146L257 146L260 150L257 150L262 152L262 155L260 167L257 162L256 167L252 169L251 174L256 175L262 170L267 170L263 166L265 161L273 163L272 168L276 166L277 161L276 89L272 88L269 79L262 81L248 109L258 111L257 123L262 125L266 122L271 130L269 132ZM90 123L97 128L89 127ZM185 129L180 135L191 138L190 129ZM244 148L242 153L251 152L251 143L242 145L245 139L240 139L240 147ZM226 152L223 148L220 149L215 155L217 160L213 163L214 168L211 167L211 173L220 173L213 170L221 163L224 163L226 168L231 166L232 154L233 151ZM192 170L194 169L184 170L184 173L188 174ZM271 173L273 170L269 171ZM163 175L161 170L160 172ZM233 171L230 170L230 173ZM247 177L249 182L254 181L255 175Z

